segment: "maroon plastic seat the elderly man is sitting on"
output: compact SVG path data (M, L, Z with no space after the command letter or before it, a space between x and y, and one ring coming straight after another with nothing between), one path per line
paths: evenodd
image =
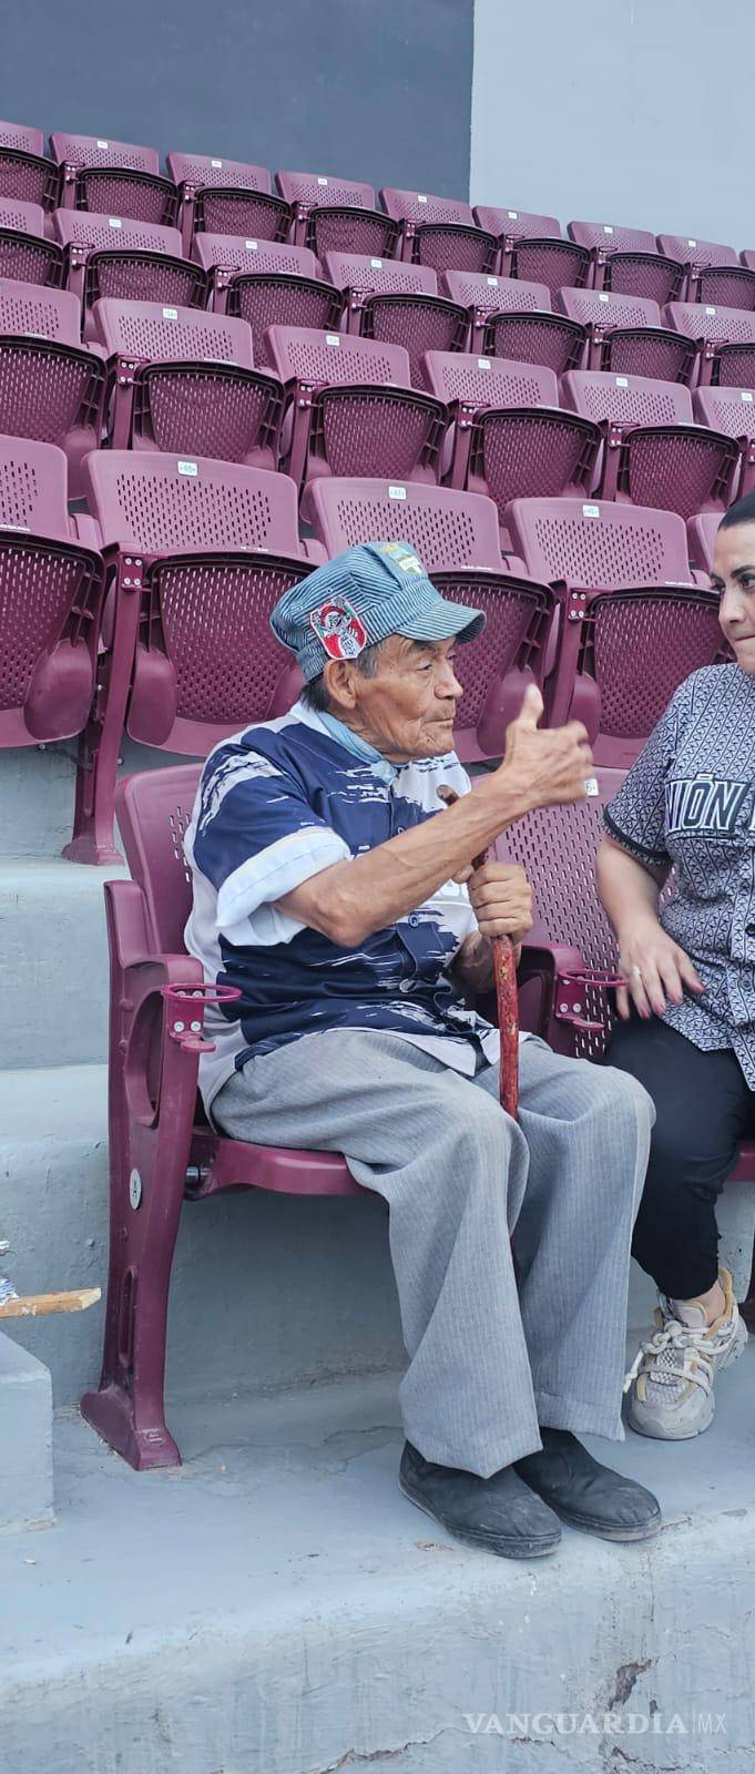
M255 704L257 697L246 710L252 718ZM198 775L198 765L183 765L133 775L119 788L131 880L106 885L113 1004L110 1212L126 1236L112 1244L103 1371L99 1391L85 1394L82 1412L142 1471L181 1464L165 1426L163 1375L170 1267L188 1171L197 1167L202 1176L197 1199L239 1187L303 1196L362 1192L339 1153L223 1139L197 1112L204 1008L223 1001L223 988L204 986L202 967L183 942L191 878L181 837ZM232 995L227 988L225 997ZM158 1061L158 1086L154 1112L145 1118L140 1103L151 1089L147 1054ZM128 1206L136 1167L142 1213Z

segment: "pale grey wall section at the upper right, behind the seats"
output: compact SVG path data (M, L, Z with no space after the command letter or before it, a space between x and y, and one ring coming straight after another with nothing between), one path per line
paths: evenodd
M475 0L471 200L755 247L753 57L751 0Z

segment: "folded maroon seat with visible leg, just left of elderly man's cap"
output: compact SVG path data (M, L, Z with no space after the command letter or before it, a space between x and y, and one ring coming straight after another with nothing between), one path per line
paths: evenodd
M66 855L112 860L122 729L204 756L248 720L282 713L291 656L269 628L278 596L312 564L284 474L202 458L97 451L89 509L108 571L108 651L80 742Z

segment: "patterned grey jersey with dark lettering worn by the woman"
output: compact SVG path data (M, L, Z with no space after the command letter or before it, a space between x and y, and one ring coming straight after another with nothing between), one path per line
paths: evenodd
M707 990L663 1020L695 1047L732 1047L755 1089L755 679L739 665L693 672L604 823L638 862L673 867L661 924Z

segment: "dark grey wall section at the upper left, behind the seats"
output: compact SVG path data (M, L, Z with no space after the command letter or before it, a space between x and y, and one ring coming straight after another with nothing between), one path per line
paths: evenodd
M0 117L466 195L473 0L7 0Z

